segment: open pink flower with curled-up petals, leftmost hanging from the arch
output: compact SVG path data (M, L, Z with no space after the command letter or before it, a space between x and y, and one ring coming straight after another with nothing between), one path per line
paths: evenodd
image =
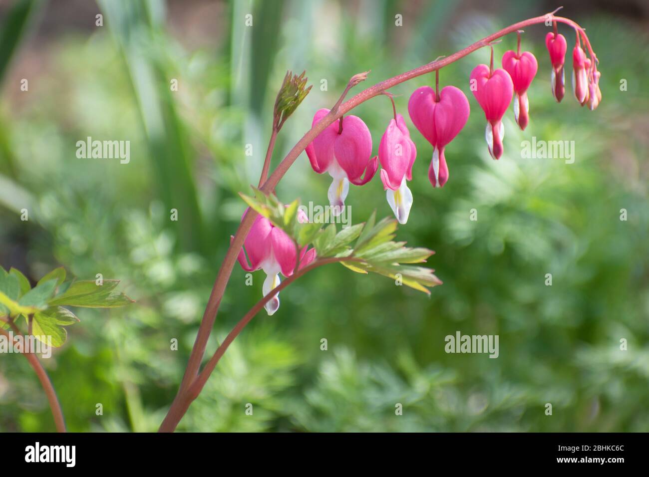
M313 124L328 114L321 109L313 116ZM342 128L342 130L341 130ZM349 193L349 183L362 186L376 173L378 160L372 155L372 136L363 120L357 116L345 116L342 126L334 121L306 147L311 167L318 174L328 172L334 179L328 191L332 213L339 215ZM361 178L365 173L365 177Z

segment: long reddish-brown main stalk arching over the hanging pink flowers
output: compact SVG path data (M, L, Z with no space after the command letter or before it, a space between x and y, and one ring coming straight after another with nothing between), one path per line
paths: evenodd
M555 10L555 12L556 11L557 10ZM356 108L356 106L358 106L359 104L384 93L386 90L389 90L389 88L397 86L397 84L421 75L426 75L427 73L432 73L432 71L437 71L442 67L447 66L448 64L456 62L460 58L463 58L464 56L467 56L470 53L473 53L474 51L489 45L489 43L497 40L498 38L501 38L502 36L505 36L506 34L516 32L530 25L545 23L546 21L565 23L566 25L569 25L570 27L578 31L582 36L594 64L596 62L596 56L591 47L591 43L589 42L582 27L580 27L580 25L569 18L554 16L555 12L526 19L524 21L514 23L513 25L509 25L509 27L486 36L482 40L473 43L472 45L458 51L457 53L454 53L453 55L445 56L441 59L435 60L434 62L430 62L415 69L411 69L410 71L406 71L406 73L401 73L400 75L397 75L393 78L377 83L371 88L367 88L363 92L358 93L357 95L349 99L349 101L343 103L345 95L347 94L347 92L349 92L350 88L358 84L358 82L364 80L367 77L367 73L360 73L359 75L352 77L349 84L347 85L347 88L345 89L345 92L343 92L343 95L341 95L340 99L334 105L332 110L330 110L330 112L326 116L324 116L319 123L313 126L308 132L306 132L306 134L304 134L304 136L302 136L302 138L293 147L293 149L291 149L284 160L282 160L282 162L280 162L280 164L276 167L271 176L267 180L263 181L261 190L265 193L270 193L271 191L273 191L281 178L284 177L288 169L291 167L291 165L293 165L293 162L297 160L302 151L306 149L306 147L318 136L318 134L320 134L324 130L324 128L328 127L334 121L337 121L337 119L341 118L344 114L347 114L347 112L349 112L353 108ZM271 147L269 147L269 152L272 153ZM260 182L262 181L260 180ZM176 398L171 404L171 408L169 408L167 417L165 417L162 426L160 426L160 432L173 432L178 422L182 418L182 415L184 415L184 412L189 406L189 404L186 404L188 393L190 389L195 390L195 388L193 388L193 384L199 378L199 369L201 366L202 357L204 356L205 347L207 345L208 338L210 337L210 333L212 332L212 327L214 326L214 321L219 310L219 305L221 304L221 299L223 298L223 293L225 293L225 287L230 280L230 275L232 274L234 263L236 263L236 258L239 250L243 246L243 241L250 231L252 223L254 222L256 216L257 212L250 210L239 224L234 238L232 239L232 241L230 241L230 247L228 248L223 263L221 263L219 273L214 282L214 287L212 287L210 299L208 300L205 312L203 313L201 326L199 327L199 332L196 336L196 340L190 354L190 360L188 361L182 383L180 384L180 389L178 389Z

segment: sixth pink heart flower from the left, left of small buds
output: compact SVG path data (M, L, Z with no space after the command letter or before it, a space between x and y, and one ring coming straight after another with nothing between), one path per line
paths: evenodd
M525 130L530 121L528 115L530 103L527 97L527 90L532 84L539 67L536 58L529 51L520 53L520 32L518 51L506 51L502 55L502 67L509 73L511 82L514 85L516 97L514 98L514 115L520 130Z

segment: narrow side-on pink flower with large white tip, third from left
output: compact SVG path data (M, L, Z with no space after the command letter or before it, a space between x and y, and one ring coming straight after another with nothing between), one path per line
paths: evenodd
M412 206L412 192L406 180L412 180L415 158L415 143L410 139L404 117L397 114L396 119L390 119L378 145L378 160L382 167L381 181L386 190L387 203L401 224L408 221Z

